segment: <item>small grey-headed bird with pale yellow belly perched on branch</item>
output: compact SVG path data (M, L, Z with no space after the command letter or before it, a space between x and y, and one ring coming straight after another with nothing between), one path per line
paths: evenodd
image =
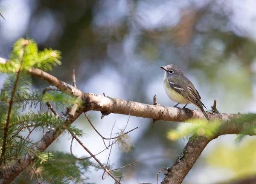
M188 103L193 103L203 112L204 117L209 121L209 118L204 111L204 107L206 108L206 106L201 102L199 92L195 89L192 82L184 76L180 67L170 64L167 66L160 66L160 68L164 70L163 86L166 94L172 101L177 102L174 107L179 104L187 105ZM183 108L185 108L186 105Z

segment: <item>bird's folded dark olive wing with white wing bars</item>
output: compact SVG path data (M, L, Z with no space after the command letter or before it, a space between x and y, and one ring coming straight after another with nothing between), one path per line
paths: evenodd
M184 80L186 80L186 82ZM203 103L200 100L201 97L189 79L184 77L182 78L182 80L180 80L179 77L169 78L168 83L172 89L174 89L176 92L180 93L180 95L194 103L196 106L198 106L199 109L204 109Z

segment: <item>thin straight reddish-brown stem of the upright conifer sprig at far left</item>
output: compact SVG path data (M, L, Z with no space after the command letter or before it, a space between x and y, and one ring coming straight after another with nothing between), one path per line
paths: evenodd
M16 79L15 79L15 82L14 82L14 87L13 87L13 90L12 90L12 96L11 96L10 103L9 103L9 109L8 109L8 114L7 114L7 119L6 119L6 126L4 128L3 147L2 147L2 154L0 156L0 165L2 165L3 156L6 152L6 139L7 139L7 132L8 132L8 129L9 129L9 122L10 122L10 117L11 117L11 112L12 112L13 98L15 96L15 91L16 91L16 88L17 88L18 80L20 79L20 72L21 72L21 69L22 69L22 66L23 66L23 59L24 59L25 51L26 51L26 45L24 45L24 48L23 48L23 55L22 55L22 58L20 60L20 69L17 72L17 76L16 76Z

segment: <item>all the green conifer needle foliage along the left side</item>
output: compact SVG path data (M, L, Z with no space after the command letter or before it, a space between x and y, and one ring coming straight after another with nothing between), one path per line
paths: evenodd
M0 167L10 167L29 152L36 158L26 170L29 172L29 179L36 181L36 178L39 178L42 183L49 184L69 184L70 182L82 184L89 177L89 168L98 169L99 167L90 160L76 160L67 153L36 152L32 148L35 141L29 138L33 131L42 129L51 131L51 127L62 125L77 136L84 135L75 126L66 125L64 118L57 118L49 109L44 108L46 103L50 102L54 109L61 111L74 104L80 106L81 99L59 91L47 91L42 94L38 90L31 90L32 80L27 71L32 67L51 70L52 66L61 64L59 58L59 51L44 49L38 52L34 40L19 39L14 44L10 60L6 64L0 64L0 72L6 73L5 82L0 89L0 160L3 160ZM12 108L10 108L11 104ZM7 117L9 117L8 120ZM4 139L5 131L7 132L6 140ZM5 147L3 147L4 142L6 142ZM4 154L3 150L5 150ZM20 179L17 178L17 180Z

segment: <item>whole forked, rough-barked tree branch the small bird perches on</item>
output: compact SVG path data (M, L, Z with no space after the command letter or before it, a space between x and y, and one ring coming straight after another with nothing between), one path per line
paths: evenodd
M0 63L5 63L5 61L6 60L0 58ZM102 115L116 113L165 121L184 122L190 118L204 119L203 113L198 110L180 109L160 105L149 105L145 103L120 100L118 98L104 97L101 95L95 95L91 93L84 93L63 81L58 80L54 76L42 71L41 69L31 68L28 72L31 75L41 78L42 80L45 80L48 83L54 85L62 92L82 98L82 100L84 101L84 108L78 109L74 114L69 113L70 117L66 121L66 124L72 124L73 121L75 121L76 118L78 118L79 115L81 115L81 112L87 112L89 110L101 111ZM210 119L220 119L222 121L228 121L232 118L240 116L240 114L212 112L207 112L207 115ZM227 124L224 123L224 125ZM224 132L224 129L220 129L218 135L216 135L214 138L217 138L219 135L224 134L236 134L239 133L241 129L241 126L232 125L228 127L228 129L225 129L226 132ZM65 129L63 127L56 127L56 131L46 132L43 138L40 141L38 141L34 147L32 147L32 150L34 152L43 152L64 130ZM186 174L192 168L193 164L195 163L201 152L212 139L207 139L203 136L191 137L189 139L189 143L184 148L183 153L179 156L173 167L168 171L165 181L163 181L163 183L181 183L183 181L183 178L185 178ZM20 158L9 169L2 171L0 173L0 184L9 183L17 175L19 175L20 172L23 171L29 165L30 157L34 158L34 155L31 152L29 152L29 155L25 155L23 158ZM176 181L174 180L174 177L177 178Z

